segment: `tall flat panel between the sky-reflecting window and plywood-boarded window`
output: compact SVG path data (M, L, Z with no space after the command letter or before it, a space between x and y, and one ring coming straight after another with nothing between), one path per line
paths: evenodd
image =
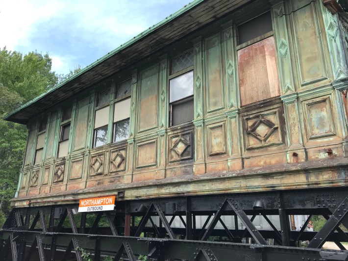
M206 78L207 78L207 111L224 107L222 78L222 44L220 33L205 40L206 45Z

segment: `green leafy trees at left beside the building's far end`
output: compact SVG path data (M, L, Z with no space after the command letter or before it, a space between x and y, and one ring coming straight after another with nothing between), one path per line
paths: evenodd
M17 188L27 136L26 126L4 121L3 117L81 70L77 66L68 75L56 75L51 66L48 53L23 55L0 49L0 227Z

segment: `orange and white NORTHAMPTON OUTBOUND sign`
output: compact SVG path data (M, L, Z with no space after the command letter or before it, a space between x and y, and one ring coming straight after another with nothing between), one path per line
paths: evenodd
M80 199L78 212L114 210L115 196Z

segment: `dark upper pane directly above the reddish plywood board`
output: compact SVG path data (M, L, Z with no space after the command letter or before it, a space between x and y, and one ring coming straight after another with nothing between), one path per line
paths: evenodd
M238 26L238 44L243 44L272 31L271 12L264 13Z

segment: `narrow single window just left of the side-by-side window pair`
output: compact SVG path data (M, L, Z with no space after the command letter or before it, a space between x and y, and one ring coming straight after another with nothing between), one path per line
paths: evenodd
M60 123L58 157L65 157L68 155L72 111L73 111L72 107L67 107L63 109L62 111L62 121Z

